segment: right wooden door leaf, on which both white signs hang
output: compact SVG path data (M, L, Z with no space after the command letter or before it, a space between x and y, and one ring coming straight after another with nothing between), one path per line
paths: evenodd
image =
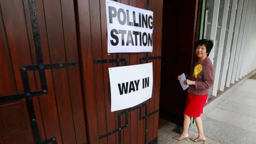
M163 1L121 0L118 2L141 9L149 7L154 12L153 53L149 53L148 56L161 56ZM157 138L158 132L158 113L156 112L159 109L161 60L148 61L153 62L154 88L152 98L146 101L146 114L143 113L145 107L142 107L141 115L148 115L149 118L140 120L140 109L137 107L134 107L134 110L127 109L123 113L122 111L111 113L108 68L116 67L117 64L108 62L98 64L96 60L105 59L106 62L106 59L126 58L127 65L137 65L140 63L140 58L147 55L146 53L108 54L105 3L105 0L77 1L77 23L79 24L79 44L84 74L85 106L89 116L87 126L90 143L140 144L150 141L155 143L156 139L153 139ZM120 62L120 66L124 66L124 63ZM119 117L118 114L121 113L123 115ZM154 114L149 116L151 113ZM126 118L128 126L125 126ZM119 120L121 124L118 124ZM124 128L121 127L123 125Z

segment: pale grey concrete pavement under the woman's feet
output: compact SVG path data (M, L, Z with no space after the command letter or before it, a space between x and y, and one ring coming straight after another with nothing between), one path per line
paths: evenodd
M218 103L206 108L202 115L207 138L205 143L256 143L256 80L245 79L216 101ZM194 143L191 140L177 141L172 138L181 132L182 127L168 123L159 129L158 143ZM197 137L195 124L190 126L189 135Z

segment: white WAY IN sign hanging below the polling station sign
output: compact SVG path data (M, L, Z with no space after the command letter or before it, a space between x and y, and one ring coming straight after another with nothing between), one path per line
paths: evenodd
M109 68L111 112L131 108L151 98L153 64Z

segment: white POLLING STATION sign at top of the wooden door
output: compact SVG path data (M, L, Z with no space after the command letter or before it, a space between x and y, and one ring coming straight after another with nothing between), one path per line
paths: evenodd
M108 53L153 51L153 12L106 0Z

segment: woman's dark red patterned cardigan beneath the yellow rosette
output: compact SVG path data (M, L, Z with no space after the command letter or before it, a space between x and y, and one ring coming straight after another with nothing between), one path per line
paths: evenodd
M195 95L205 95L209 93L209 89L213 85L214 70L213 70L212 61L208 57L201 62L196 62L195 66L199 64L203 66L203 69L197 75L197 78L193 76L194 69L193 69L193 72L188 77L190 81L195 81L195 85L189 86L188 93L195 94Z

